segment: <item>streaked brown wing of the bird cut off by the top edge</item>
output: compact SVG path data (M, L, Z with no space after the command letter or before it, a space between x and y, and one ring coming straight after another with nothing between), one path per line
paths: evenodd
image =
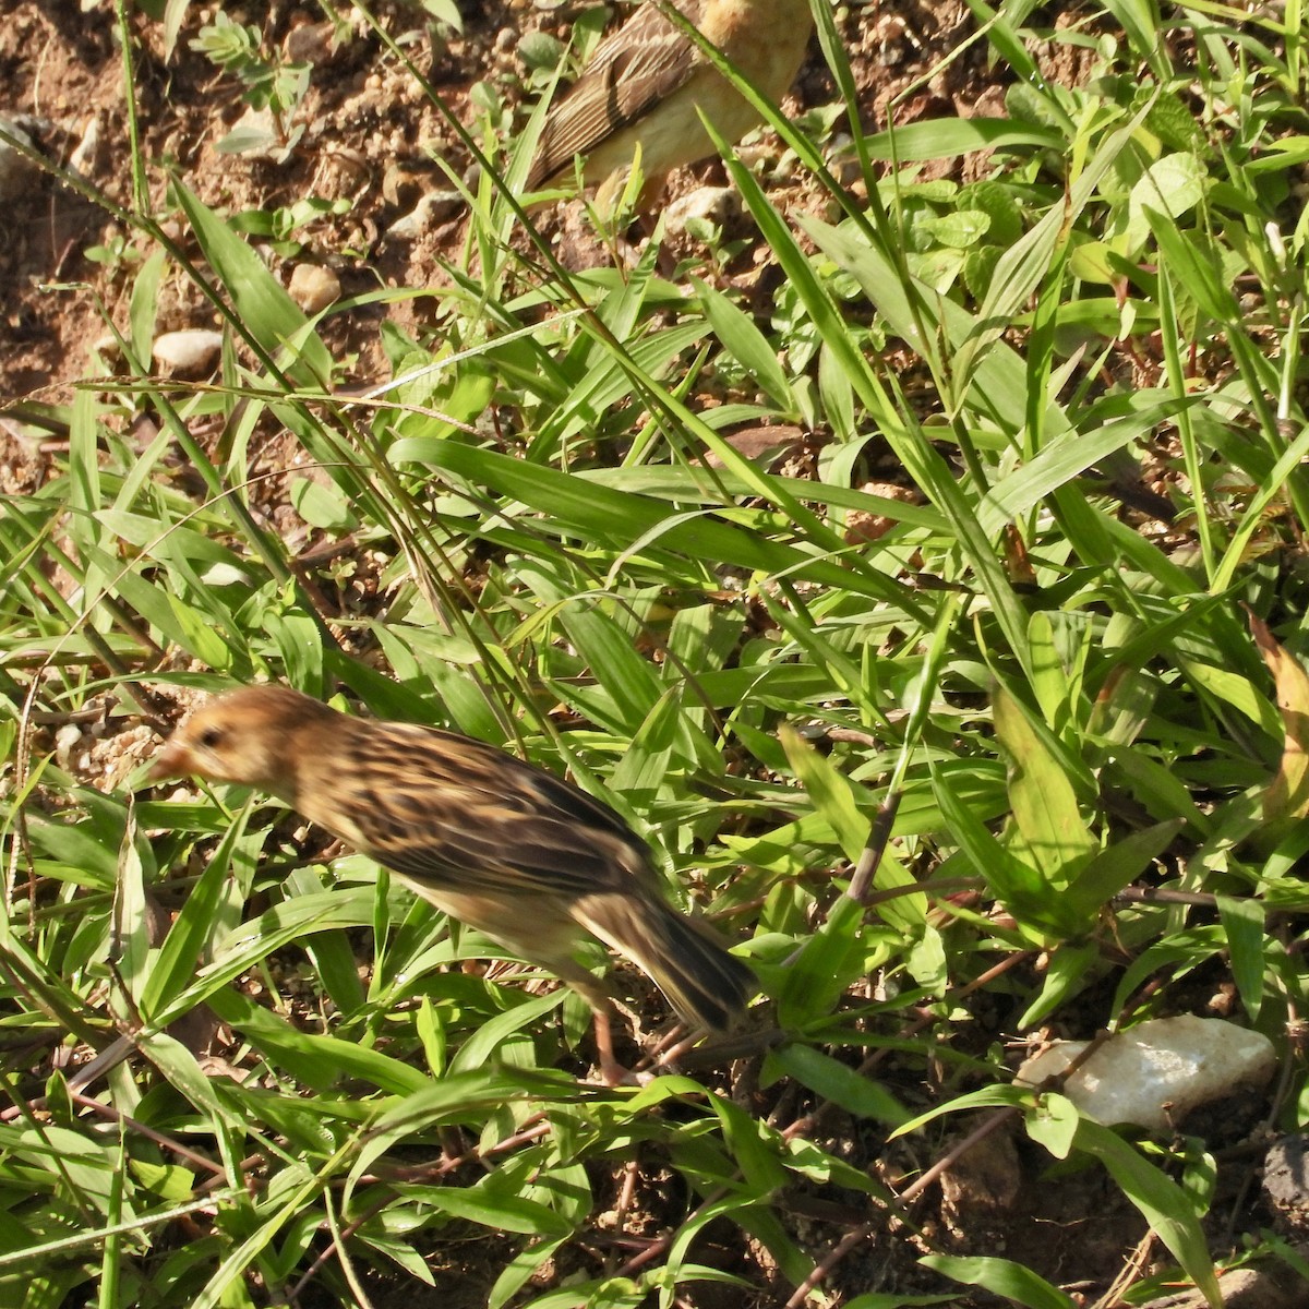
M706 0L678 8L699 24ZM534 190L573 156L589 154L601 141L649 113L685 85L699 51L652 4L645 4L596 47L581 77L550 111L528 175Z

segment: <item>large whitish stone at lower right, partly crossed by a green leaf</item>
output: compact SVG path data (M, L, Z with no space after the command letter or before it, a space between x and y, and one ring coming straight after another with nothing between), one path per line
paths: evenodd
M1018 1069L1035 1086L1063 1072L1086 1041L1056 1041ZM1169 1131L1198 1105L1258 1089L1276 1068L1272 1042L1221 1018L1151 1018L1110 1037L1069 1079L1063 1093L1098 1123Z

